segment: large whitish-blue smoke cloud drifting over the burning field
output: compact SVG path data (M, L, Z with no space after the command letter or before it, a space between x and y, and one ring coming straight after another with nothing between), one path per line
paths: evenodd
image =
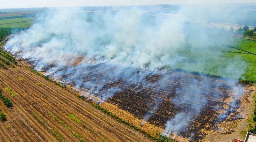
M181 10L179 13L184 13ZM231 88L233 101L220 119L225 119L236 108L243 93L237 81L246 63L240 57L223 61L221 66L213 63L227 49L207 40L224 44L233 41L212 34L219 32L218 29L208 30L184 18L145 15L136 8L93 13L83 9L64 11L51 9L41 14L31 28L10 39L4 49L28 60L37 71L86 91L82 94L84 97L90 96L90 100L99 103L125 88L133 88L135 92L154 88L158 93L153 98L155 101L150 102L152 109L145 114L141 125L168 96L161 91L175 88L175 96L170 101L180 110L165 124L166 136L186 131L201 109L208 107L207 98L220 99L218 81L193 78L183 83L184 86L175 85L174 82L185 75L170 75L170 68L196 69L222 76ZM155 82L147 79L154 75L161 79Z

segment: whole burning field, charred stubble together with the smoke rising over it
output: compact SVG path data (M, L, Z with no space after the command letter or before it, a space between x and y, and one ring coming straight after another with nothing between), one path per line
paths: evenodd
M247 64L212 42L228 45L233 37L134 11L44 13L3 48L84 99L130 114L149 133L198 142L240 119L238 79Z

